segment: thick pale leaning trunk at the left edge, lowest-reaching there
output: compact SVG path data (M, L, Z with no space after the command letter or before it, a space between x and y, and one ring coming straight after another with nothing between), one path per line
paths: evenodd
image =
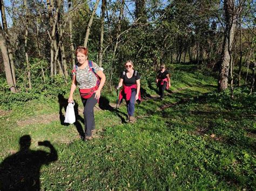
M16 93L15 83L14 83L14 79L13 79L12 73L11 73L11 63L8 58L8 50L6 47L1 23L0 23L0 47L1 47L1 52L3 55L4 70L5 70L7 84L8 84L8 86L10 86L11 92Z

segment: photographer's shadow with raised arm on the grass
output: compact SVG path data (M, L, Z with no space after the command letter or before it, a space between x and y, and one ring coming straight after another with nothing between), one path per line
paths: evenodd
M31 137L19 139L19 151L5 158L0 166L0 190L40 190L40 169L58 159L52 144L45 140L39 146L50 148L50 153L30 150Z

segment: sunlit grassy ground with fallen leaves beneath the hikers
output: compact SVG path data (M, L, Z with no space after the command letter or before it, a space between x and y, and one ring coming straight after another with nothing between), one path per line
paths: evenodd
M10 179L13 188L45 190L255 190L255 94L235 88L231 100L229 90L217 93L217 80L194 65L172 68L164 101L154 74L142 79L134 124L126 122L124 103L116 110L116 94L103 92L90 142L79 136L84 125L78 94L72 125L64 123L67 95L0 110L0 188ZM26 156L19 151L25 135L31 137ZM44 140L57 153L47 154L49 144L38 146Z

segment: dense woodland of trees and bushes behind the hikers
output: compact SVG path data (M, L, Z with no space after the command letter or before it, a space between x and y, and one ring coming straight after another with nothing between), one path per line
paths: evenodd
M144 76L160 63L196 63L218 75L219 91L230 87L233 96L247 84L252 92L255 7L253 0L1 0L1 91L55 94L69 84L82 45L109 87L129 59Z

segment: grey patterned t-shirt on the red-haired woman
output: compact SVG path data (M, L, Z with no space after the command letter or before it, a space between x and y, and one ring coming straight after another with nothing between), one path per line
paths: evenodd
M97 63L92 62L92 67L94 68L95 72L97 73L100 68L97 65ZM84 69L79 69L77 67L76 70L76 80L78 82L78 88L80 89L89 89L96 86L97 77L93 73L92 70L90 70L89 65L87 65Z

